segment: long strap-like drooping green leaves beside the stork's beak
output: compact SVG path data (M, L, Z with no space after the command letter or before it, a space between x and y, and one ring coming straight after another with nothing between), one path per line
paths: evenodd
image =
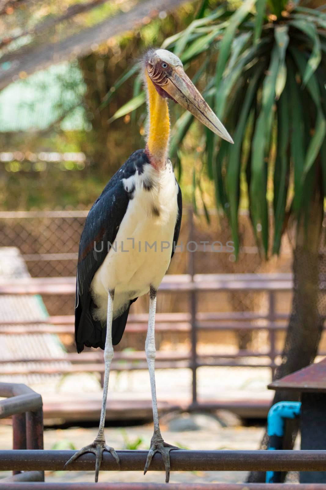
M325 7L245 0L210 8L204 0L197 18L162 47L177 54L186 70L196 65L194 82L234 138L231 146L205 130L200 146L236 253L241 194L248 198L257 243L266 256L273 212L272 251L278 253L289 217L308 222L311 201L317 196L323 206L326 196ZM142 98L136 92L111 120L137 109ZM193 119L184 113L172 131L170 155L179 174L180 150ZM201 194L196 168L194 194L195 189Z

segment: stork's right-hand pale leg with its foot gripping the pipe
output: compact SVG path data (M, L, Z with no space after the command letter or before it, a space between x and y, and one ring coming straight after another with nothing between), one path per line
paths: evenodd
M158 422L158 411L157 411L157 401L156 401L156 388L155 388L155 309L156 309L156 290L151 286L150 289L150 314L148 319L148 330L145 343L146 359L148 364L148 370L150 372L151 380L151 392L152 392L152 406L153 406L153 419L154 419L154 433L151 439L151 448L148 452L146 465L144 468L144 475L148 470L152 457L156 452L162 455L163 463L165 466L165 481L166 483L170 480L170 451L173 449L179 449L177 446L172 446L167 442L163 441L161 436L160 426Z

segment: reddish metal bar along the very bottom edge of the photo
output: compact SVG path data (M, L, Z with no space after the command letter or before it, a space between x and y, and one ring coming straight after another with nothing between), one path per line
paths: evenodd
M0 488L2 487L0 483ZM4 487L2 487L4 488ZM25 485L10 484L10 490ZM164 483L29 483L28 490L166 490ZM271 490L271 484L169 483L169 490ZM326 490L324 484L273 484L273 490Z

